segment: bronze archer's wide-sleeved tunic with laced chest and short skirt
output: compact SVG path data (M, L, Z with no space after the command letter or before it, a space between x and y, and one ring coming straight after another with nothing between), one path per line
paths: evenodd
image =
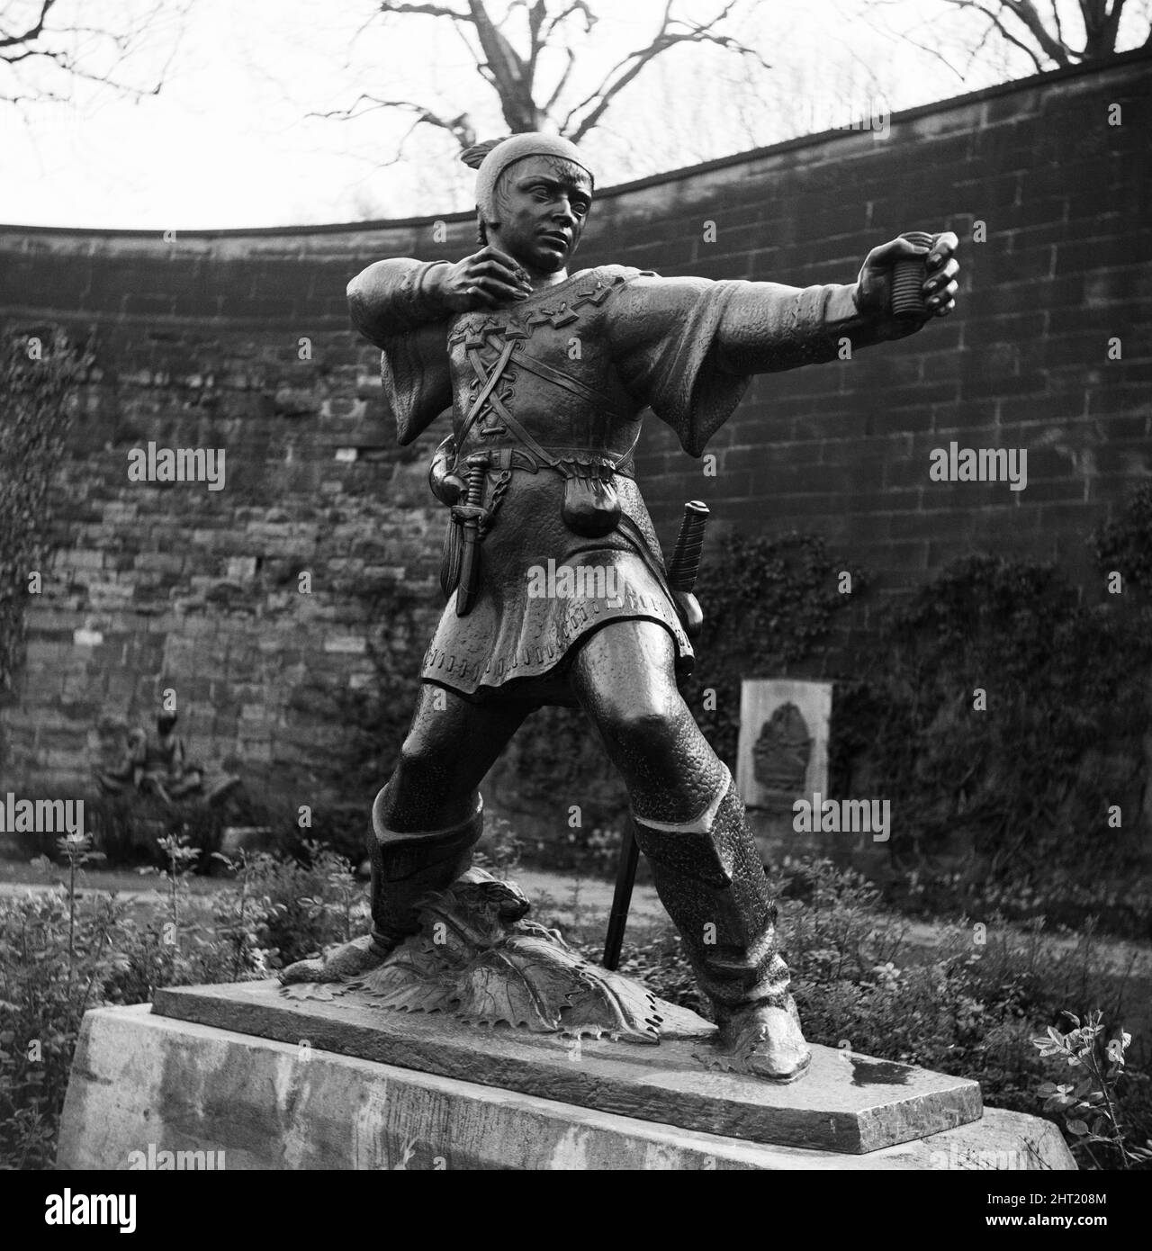
M844 334L862 342L852 289L603 265L525 300L445 318L423 291L432 264L380 261L349 286L354 323L383 349L399 442L450 405L457 472L464 477L474 452L490 462L478 598L460 617L452 590L422 679L473 701L573 704L567 667L577 644L609 622L652 620L670 634L683 681L692 646L632 477L642 414L650 408L699 457L752 373L834 359ZM562 517L564 475L533 443L568 473L609 478L622 514L615 529L573 530ZM459 542L449 527L445 563ZM574 573L557 577L565 565Z

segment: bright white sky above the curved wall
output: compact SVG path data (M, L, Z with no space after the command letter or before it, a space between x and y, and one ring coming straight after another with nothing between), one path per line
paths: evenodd
M160 4L160 19L119 73L150 85L163 71L164 86L133 100L79 83L69 103L0 103L0 221L164 230L469 206L473 175L447 134L420 128L394 160L410 119L380 111L355 121L309 116L348 108L369 91L452 114L468 110L482 138L504 134L490 90L448 23L381 24L371 0L170 3L186 13L174 13L169 0L59 0L58 13L79 6L93 25L103 14L123 24ZM31 0L6 0L0 24L19 25L21 6L28 11ZM573 28L573 101L622 53L647 44L664 5L592 6L604 14L593 34ZM505 3L490 8L502 13ZM675 11L702 19L719 8L719 0L678 0ZM958 26L942 0L873 3L871 23L857 16L866 8L866 0L743 0L739 20L725 29L772 68L702 46L654 61L585 140L602 185L1031 70L1009 53L981 58L966 71L961 49L971 28ZM911 34L923 49L884 28ZM542 79L553 81L560 65L560 54L543 61Z

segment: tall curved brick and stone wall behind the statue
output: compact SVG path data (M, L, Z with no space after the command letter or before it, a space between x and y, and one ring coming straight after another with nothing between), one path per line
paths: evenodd
M1054 555L1092 593L1084 538L1152 472L1149 65L1132 55L897 115L886 140L817 136L603 193L583 264L806 285L851 280L902 229L966 241L962 315L762 377L709 449L715 477L652 422L639 472L662 532L690 497L745 529L818 530L878 574L873 605L984 544ZM384 255L463 255L472 221L445 226L444 243L433 218L174 240L0 226L0 320L94 332L98 357L0 722L0 792L79 786L165 687L201 758L330 777L345 728L309 692L365 682L371 588L427 593L432 619L443 527L424 485L442 432L394 447L344 285ZM226 449L225 489L129 482L128 452L149 440ZM929 453L951 440L1027 448L1027 489L931 483ZM854 627L867 633L867 604Z

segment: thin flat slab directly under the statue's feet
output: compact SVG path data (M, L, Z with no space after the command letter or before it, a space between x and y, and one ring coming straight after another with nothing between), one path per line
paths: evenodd
M276 982L156 992L154 1011L256 1035L774 1146L861 1153L951 1130L981 1115L979 1086L909 1065L813 1047L788 1086L709 1070L712 1038L659 1046L479 1028L444 1015L397 1012L353 995L289 997ZM714 1031L713 1031L714 1032Z

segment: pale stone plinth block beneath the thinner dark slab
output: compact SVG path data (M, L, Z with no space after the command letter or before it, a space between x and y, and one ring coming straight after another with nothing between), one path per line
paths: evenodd
M592 1047L583 1045L585 1052ZM657 1080L664 1071L663 1046L634 1050L644 1055ZM837 1062L846 1071L851 1068ZM587 1060L582 1056L564 1063L579 1073ZM698 1080L707 1087L718 1076L702 1073ZM801 1088L784 1087L784 1092ZM779 1087L768 1087L765 1098L781 1093ZM58 1166L1074 1167L1052 1125L1014 1112L986 1111L967 1125L863 1153L771 1146L333 1055L311 1043L304 1046L303 1040L281 1042L158 1016L148 1006L98 1008L85 1017L64 1108Z

